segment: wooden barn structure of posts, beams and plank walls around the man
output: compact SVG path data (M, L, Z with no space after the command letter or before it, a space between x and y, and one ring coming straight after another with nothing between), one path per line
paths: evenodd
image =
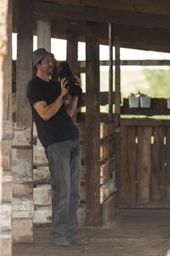
M169 65L120 58L121 47L170 52L169 1L1 0L0 14L1 255L11 255L12 241L32 242L33 224L51 218L48 164L26 99L33 35L47 50L51 38L66 39L67 61L75 73L86 74L86 112L75 116L82 144L80 223L104 225L116 207L169 208L170 121L121 118L169 114L166 100L130 109L121 104L120 79L121 65ZM77 60L79 41L86 42L86 61ZM109 61L99 61L99 44L110 46ZM99 90L101 65L110 67L105 92ZM109 113L100 113L107 104Z

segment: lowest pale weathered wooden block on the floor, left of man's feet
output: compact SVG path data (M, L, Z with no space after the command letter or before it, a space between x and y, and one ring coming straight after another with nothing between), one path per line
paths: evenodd
M14 243L32 243L33 225L31 218L14 218L12 227Z

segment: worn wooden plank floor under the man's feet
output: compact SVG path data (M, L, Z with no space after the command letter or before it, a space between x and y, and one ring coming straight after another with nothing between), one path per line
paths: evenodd
M54 247L49 227L35 227L33 245L14 245L13 256L165 256L170 210L123 210L105 228L80 228L87 247Z

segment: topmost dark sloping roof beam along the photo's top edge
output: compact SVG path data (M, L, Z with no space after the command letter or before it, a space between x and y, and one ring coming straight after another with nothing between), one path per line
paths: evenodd
M93 2L92 2L93 3ZM147 5L146 5L147 6ZM139 13L130 9L111 9L106 5L103 8L95 8L90 4L73 5L59 3L41 3L35 1L34 15L48 17L51 20L61 18L63 20L89 20L113 24L125 24L141 26L141 27L160 27L169 28L169 16L162 14Z

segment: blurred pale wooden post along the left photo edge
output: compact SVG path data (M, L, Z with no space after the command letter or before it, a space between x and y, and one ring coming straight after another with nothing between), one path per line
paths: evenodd
M0 2L0 255L12 255L10 168L12 129L12 1Z

